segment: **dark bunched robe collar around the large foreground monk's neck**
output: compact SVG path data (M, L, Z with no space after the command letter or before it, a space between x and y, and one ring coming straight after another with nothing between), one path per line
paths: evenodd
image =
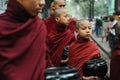
M19 22L27 21L31 16L17 0L8 2L6 13L14 20Z

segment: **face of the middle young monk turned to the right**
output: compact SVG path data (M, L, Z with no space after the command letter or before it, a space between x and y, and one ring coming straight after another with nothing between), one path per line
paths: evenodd
M58 17L56 17L56 21L58 23L61 23L64 25L68 25L69 24L69 15L68 15L67 11L62 12Z

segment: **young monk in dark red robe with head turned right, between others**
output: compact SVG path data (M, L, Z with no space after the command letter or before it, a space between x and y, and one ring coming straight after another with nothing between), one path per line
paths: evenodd
M51 29L51 32L48 33L47 43L53 64L60 66L61 62L64 62L61 61L63 49L74 40L74 34L68 27L69 16L66 9L56 9L54 15L56 25Z

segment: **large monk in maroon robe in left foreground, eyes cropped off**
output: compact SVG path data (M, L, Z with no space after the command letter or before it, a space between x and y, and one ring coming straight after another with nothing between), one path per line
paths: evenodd
M44 80L47 32L37 16L44 4L44 0L8 1L0 15L0 80Z

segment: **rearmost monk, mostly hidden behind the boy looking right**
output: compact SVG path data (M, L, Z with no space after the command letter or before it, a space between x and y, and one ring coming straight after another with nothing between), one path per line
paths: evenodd
M50 14L52 14L52 15L44 20L48 33L51 31L51 29L53 29L53 26L56 25L54 11L59 8L65 8L65 6L66 6L65 0L54 0L51 3L51 8L50 8L51 13ZM73 33L75 31L75 23L76 23L75 19L69 18L68 26L72 30Z

